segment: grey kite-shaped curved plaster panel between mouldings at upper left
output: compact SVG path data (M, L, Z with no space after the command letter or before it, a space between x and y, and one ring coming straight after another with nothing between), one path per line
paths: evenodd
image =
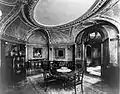
M4 31L8 36L17 38L18 40L25 40L27 33L33 30L31 26L26 24L20 16L17 16L11 23L6 27Z

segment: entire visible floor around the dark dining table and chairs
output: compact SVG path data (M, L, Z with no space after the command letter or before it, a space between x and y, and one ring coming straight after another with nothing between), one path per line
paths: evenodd
M103 83L99 77L84 76L84 94L119 94L116 88ZM51 83L45 91L42 74L28 76L26 80L14 85L2 85L0 94L75 94L73 88L63 88L60 81ZM77 85L77 94L81 94L81 87Z

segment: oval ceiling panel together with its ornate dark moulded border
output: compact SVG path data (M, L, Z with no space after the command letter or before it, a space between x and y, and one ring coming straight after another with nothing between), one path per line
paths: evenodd
M25 0L24 15L31 24L46 29L62 29L94 16L110 0Z

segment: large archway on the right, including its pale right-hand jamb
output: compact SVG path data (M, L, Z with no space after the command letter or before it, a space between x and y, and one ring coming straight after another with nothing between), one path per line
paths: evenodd
M86 72L89 73L89 66L100 65L99 76L104 78L111 65L119 66L118 33L115 25L102 20L96 20L96 24L80 31L75 40L76 59L85 64Z

